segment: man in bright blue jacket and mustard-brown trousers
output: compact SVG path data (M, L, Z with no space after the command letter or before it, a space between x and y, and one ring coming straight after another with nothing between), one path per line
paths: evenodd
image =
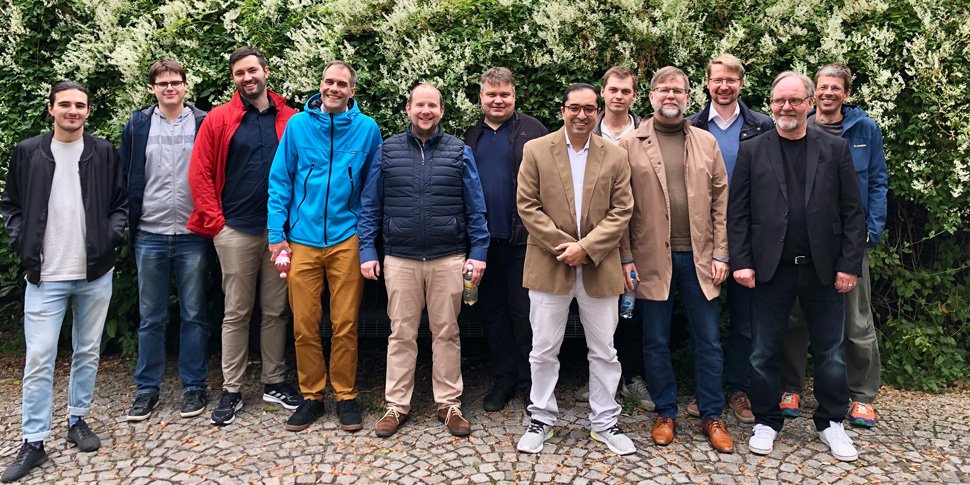
M294 116L270 169L270 250L290 253L290 306L296 337L297 376L304 402L286 422L301 431L323 415L327 363L320 342L320 295L330 290L333 324L330 383L337 419L345 431L363 427L357 404L357 316L363 292L358 253L360 189L380 163L381 132L353 99L357 72L332 61L320 94Z

